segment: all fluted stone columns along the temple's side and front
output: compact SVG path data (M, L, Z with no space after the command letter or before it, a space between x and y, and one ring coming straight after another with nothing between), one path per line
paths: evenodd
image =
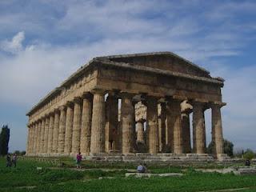
M136 143L144 142L150 154L167 147L175 154L191 153L190 115L181 111L181 102L169 99L161 103L158 118L158 98L146 97L146 133L143 121L135 131L134 95L120 94L121 119L118 126L118 97L95 90L74 98L29 127L28 154L101 154L105 152L136 152ZM120 96L119 95L119 96ZM193 102L193 150L206 153L206 129L202 102ZM218 105L212 109L212 138L216 153L223 154L222 120ZM145 135L146 134L146 138ZM136 141L137 138L137 141Z

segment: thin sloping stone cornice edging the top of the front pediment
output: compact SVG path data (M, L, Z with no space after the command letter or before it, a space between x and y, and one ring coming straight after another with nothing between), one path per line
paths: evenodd
M154 55L169 55L173 56L174 58L178 58L182 60L183 62L186 62L187 64L190 64L190 66L194 66L195 68L198 68L198 70L202 70L207 74L210 74L210 71L204 69L201 66L198 66L197 64L194 64L194 62L190 62L186 58L182 58L178 54L174 54L173 52L170 51L158 51L158 52L148 52L148 53L139 53L139 54L114 54L114 55L107 55L107 56L102 56L102 57L96 57L99 59L111 59L111 58L133 58L133 57L143 57L143 56L154 56Z

